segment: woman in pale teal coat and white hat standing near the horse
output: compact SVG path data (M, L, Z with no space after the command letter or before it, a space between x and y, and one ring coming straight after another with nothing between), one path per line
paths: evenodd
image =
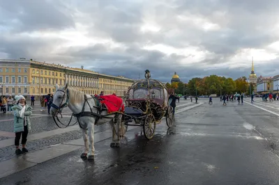
M31 130L30 115L32 107L27 105L24 96L15 96L17 104L13 106L14 131L15 131L15 154L19 155L28 152L26 148L27 135ZM22 150L20 150L20 138L22 138Z

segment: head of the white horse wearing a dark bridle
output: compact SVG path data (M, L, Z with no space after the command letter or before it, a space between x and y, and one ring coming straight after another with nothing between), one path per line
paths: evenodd
M68 93L68 83L66 86L59 87L56 84L56 92L53 96L53 102L50 108L52 116L56 116L57 113L61 113L62 109L68 105L69 93Z

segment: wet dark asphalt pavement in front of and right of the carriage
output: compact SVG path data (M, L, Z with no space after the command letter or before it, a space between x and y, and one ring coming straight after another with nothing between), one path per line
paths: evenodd
M75 150L0 184L279 184L279 111L266 109L277 102L256 101L222 106L213 99L177 114L176 127L159 124L152 140L133 129L119 149L110 139L96 143L94 162Z

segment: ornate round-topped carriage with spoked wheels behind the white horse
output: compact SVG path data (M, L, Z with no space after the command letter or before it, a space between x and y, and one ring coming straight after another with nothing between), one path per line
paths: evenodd
M153 138L156 124L164 117L168 127L172 127L174 119L172 107L168 103L167 88L150 77L149 70L146 70L145 79L133 83L129 88L125 97L125 113L122 115L126 129L128 126L142 126L147 139Z

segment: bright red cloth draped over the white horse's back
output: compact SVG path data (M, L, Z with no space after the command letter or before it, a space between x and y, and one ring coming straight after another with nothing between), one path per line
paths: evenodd
M99 96L100 97L100 103L105 104L107 107L107 113L113 113L113 112L124 112L124 104L123 100L116 95L104 95Z

